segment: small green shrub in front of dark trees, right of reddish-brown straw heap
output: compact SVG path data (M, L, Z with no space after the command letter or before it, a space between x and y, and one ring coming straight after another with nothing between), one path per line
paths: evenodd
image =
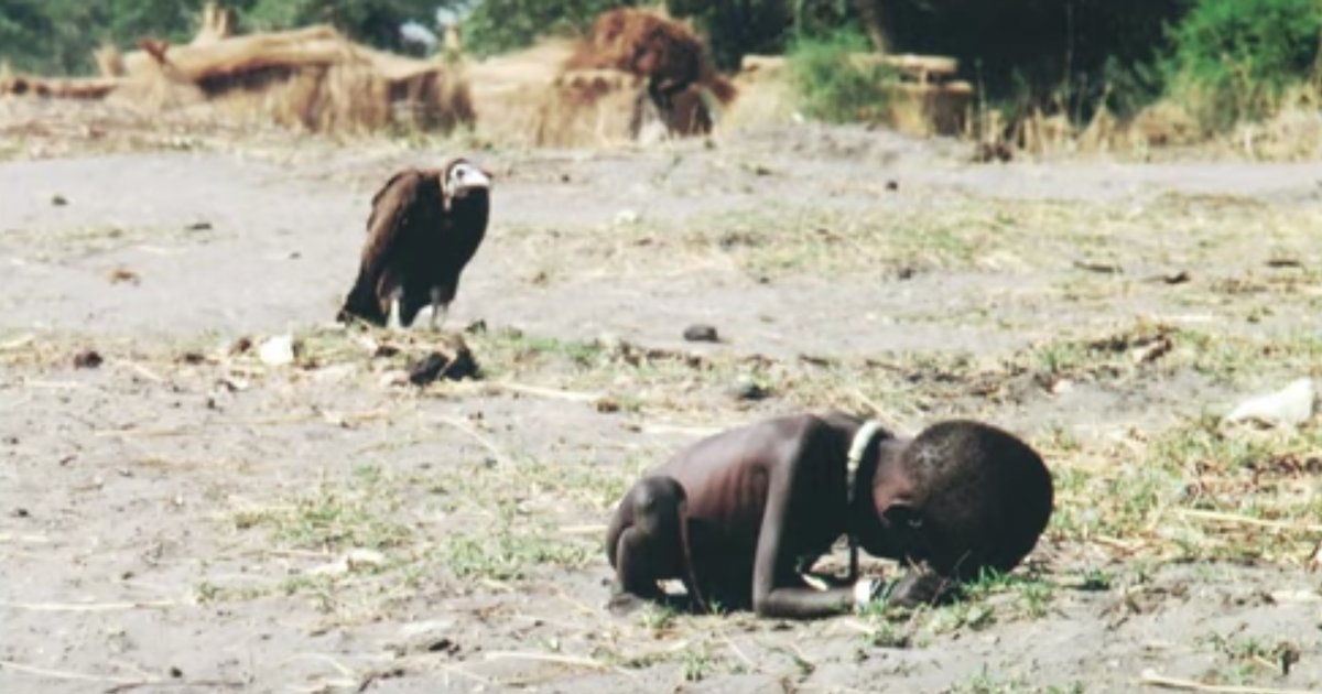
M788 56L789 78L804 114L832 122L884 120L894 70L850 59L851 54L870 50L871 44L851 30L795 41Z

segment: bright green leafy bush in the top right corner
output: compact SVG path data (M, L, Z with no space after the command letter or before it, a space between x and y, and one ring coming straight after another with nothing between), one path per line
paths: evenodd
M1170 93L1211 128L1259 119L1318 59L1318 0L1200 0L1171 32Z

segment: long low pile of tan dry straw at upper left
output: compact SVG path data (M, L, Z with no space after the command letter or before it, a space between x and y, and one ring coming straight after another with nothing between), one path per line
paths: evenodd
M0 94L110 99L164 111L185 106L328 131L408 126L449 130L476 120L468 86L442 62L357 45L330 26L230 36L230 16L208 7L188 45L144 40L140 50L95 56L102 75L0 75Z

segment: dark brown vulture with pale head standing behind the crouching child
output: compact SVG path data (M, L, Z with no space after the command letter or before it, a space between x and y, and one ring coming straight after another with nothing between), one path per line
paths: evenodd
M358 279L338 320L407 328L431 304L431 327L486 233L490 176L468 160L395 173L371 198Z

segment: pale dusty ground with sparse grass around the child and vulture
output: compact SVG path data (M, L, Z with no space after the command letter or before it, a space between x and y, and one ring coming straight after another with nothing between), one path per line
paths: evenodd
M0 690L1322 689L1322 427L1218 422L1322 375L1322 164L480 144L0 100ZM484 377L391 385L436 337L329 319L375 186L457 153ZM830 406L1031 440L1029 566L912 615L602 608L640 471Z

